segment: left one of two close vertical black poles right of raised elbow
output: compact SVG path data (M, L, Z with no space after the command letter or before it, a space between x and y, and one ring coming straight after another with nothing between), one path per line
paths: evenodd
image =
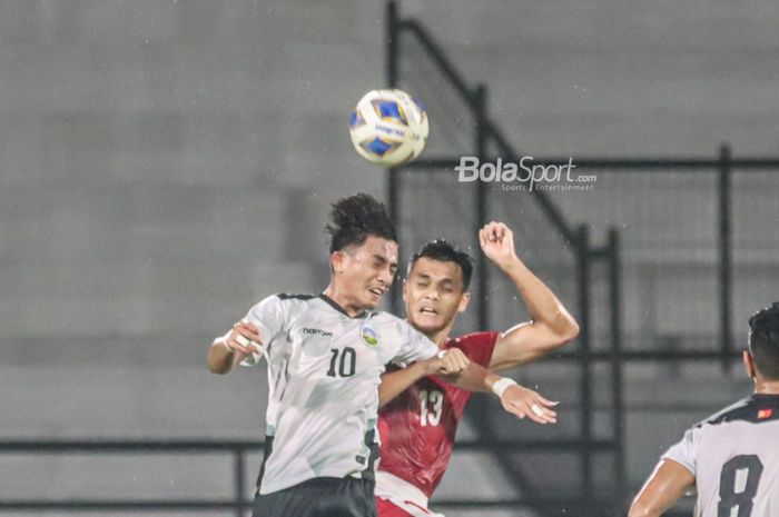
M579 228L576 239L576 255L579 260L579 347L581 351L581 404L580 425L584 447L581 450L582 475L582 504L584 511L590 516L588 498L593 494L592 489L592 379L590 372L590 233L586 226Z

